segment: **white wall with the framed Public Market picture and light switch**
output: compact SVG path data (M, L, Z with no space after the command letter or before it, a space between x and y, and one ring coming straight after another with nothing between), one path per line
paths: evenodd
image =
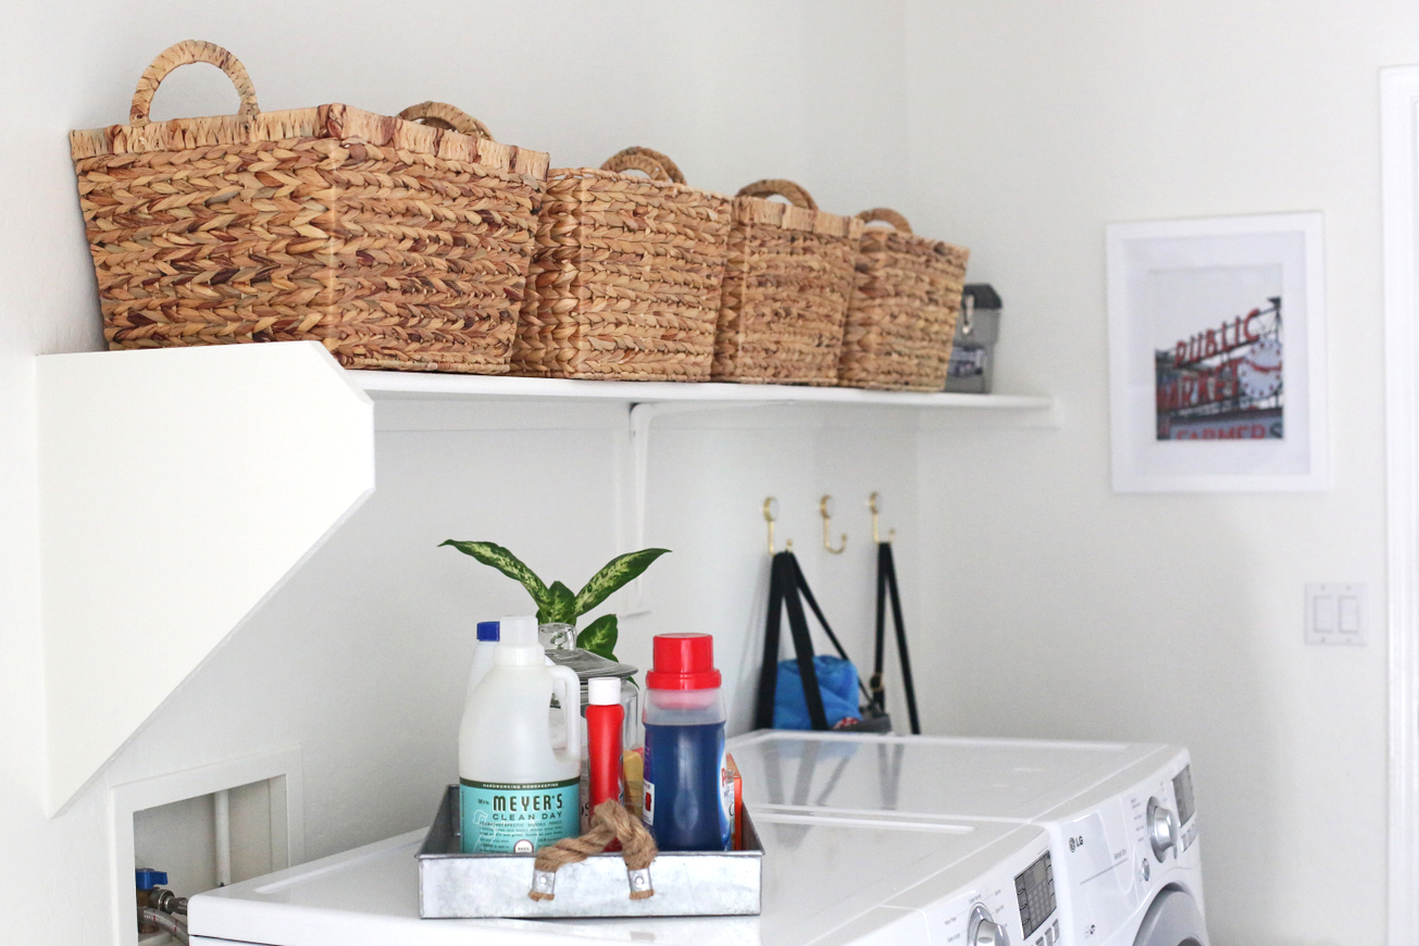
M1215 942L1382 943L1376 69L1419 7L922 0L908 35L918 216L1002 291L1000 384L1066 414L921 443L934 725L1185 743ZM1104 224L1291 210L1325 214L1334 488L1114 495ZM1308 580L1368 583L1368 647L1303 644Z

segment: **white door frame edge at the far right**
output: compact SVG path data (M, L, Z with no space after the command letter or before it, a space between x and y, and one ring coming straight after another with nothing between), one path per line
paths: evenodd
M1389 586L1389 946L1419 943L1419 67L1379 74Z

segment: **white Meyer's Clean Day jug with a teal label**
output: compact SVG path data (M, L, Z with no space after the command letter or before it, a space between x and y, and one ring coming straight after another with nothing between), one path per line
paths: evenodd
M580 682L548 667L536 618L505 617L492 667L458 728L464 854L531 854L576 837L582 774ZM548 705L556 695L566 746L553 747Z

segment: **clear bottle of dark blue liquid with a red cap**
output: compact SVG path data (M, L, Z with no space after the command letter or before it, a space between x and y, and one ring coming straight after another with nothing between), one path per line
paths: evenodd
M661 851L725 851L724 698L708 634L657 634L646 674L646 807Z

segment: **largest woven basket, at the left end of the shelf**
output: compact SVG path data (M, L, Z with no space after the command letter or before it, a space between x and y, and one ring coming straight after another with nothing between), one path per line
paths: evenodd
M150 122L210 62L237 115ZM243 65L186 41L129 125L72 132L111 347L321 340L350 367L501 374L548 157L345 105L261 112Z

